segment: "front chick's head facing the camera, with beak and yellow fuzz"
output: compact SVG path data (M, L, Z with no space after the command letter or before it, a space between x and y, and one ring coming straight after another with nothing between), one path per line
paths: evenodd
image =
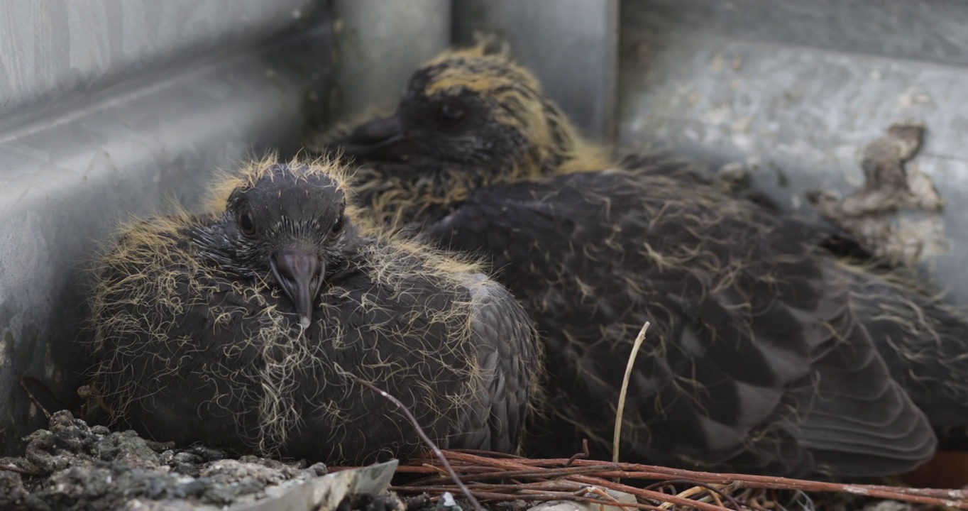
M312 321L327 271L343 260L352 238L338 170L297 162L253 165L223 183L222 190L230 189L225 212L196 236L209 255L240 275L270 275L303 327Z

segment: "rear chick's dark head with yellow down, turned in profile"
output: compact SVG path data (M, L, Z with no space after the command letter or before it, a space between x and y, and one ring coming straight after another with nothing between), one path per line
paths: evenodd
M533 75L482 46L447 51L420 67L392 115L363 123L341 142L346 156L382 163L385 171L463 173L461 181L478 184L555 172L595 152Z

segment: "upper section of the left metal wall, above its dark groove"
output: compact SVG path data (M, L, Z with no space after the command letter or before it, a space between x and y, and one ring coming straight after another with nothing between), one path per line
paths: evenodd
M255 45L318 0L0 2L0 129L147 70Z

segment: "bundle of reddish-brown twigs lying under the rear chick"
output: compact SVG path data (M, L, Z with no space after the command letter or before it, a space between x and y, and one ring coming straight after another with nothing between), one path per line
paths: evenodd
M923 490L890 486L839 484L784 477L698 472L662 466L611 463L578 459L534 460L498 453L440 451L453 474L438 458L427 458L400 466L398 473L426 474L392 488L400 494L439 496L450 492L461 496L463 489L456 475L475 500L489 503L524 500L537 503L571 500L614 505L624 511L723 509L762 510L771 507L771 491L802 493L842 493L853 496L892 499L940 507L968 509L968 492L961 490ZM620 479L653 481L630 486ZM680 492L676 492L676 489ZM620 502L607 490L636 497L636 502ZM670 493L670 490L672 491Z

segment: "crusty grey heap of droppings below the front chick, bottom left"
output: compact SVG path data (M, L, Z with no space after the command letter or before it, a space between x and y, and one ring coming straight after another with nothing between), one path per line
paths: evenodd
M327 472L321 464L172 448L133 431L89 427L66 410L26 442L22 458L0 459L0 466L27 472L0 469L0 509L218 509L280 495ZM366 509L353 502L365 504L356 499L345 509Z

